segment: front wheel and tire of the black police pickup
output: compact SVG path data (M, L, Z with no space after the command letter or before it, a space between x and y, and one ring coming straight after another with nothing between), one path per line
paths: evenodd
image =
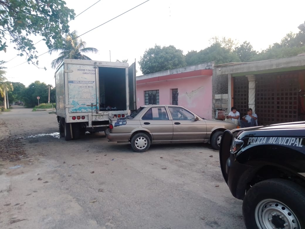
M247 229L305 228L304 209L305 189L283 179L253 185L242 203Z

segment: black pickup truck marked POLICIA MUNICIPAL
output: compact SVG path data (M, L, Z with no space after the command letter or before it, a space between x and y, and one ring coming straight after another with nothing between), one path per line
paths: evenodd
M305 228L305 122L226 130L219 156L247 229Z

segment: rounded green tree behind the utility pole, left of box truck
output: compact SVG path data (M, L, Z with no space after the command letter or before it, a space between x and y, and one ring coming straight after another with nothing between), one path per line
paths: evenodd
M40 97L39 103L48 103L48 86L38 80L23 91L22 97L27 107L34 107L38 105L37 96Z

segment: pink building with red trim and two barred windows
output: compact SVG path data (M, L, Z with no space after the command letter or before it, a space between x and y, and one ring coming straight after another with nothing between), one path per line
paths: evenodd
M202 118L212 118L213 68L210 62L138 76L137 107L179 105Z

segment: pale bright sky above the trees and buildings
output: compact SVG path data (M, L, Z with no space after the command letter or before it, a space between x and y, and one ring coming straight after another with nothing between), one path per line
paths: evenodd
M145 2L145 0L65 0L66 6L74 9L76 15L96 3L90 9L69 22L70 31L77 30L78 35L107 22L110 19ZM149 0L137 8L117 17L84 34L81 39L87 47L99 50L97 54L86 54L92 60L116 61L128 59L132 64L136 60L137 75L142 75L138 61L146 49L155 44L174 45L183 54L188 51L200 51L210 46L210 38L226 37L242 43L250 42L257 51L266 49L289 32L297 33L297 28L305 20L305 1L291 0ZM33 36L34 43L41 37ZM9 43L6 53L0 52L0 60L8 61L5 77L11 82L20 82L28 86L39 80L55 86L52 60L59 53L48 51L43 41L35 45L41 55L39 69L27 64L26 57L17 56L18 51Z

